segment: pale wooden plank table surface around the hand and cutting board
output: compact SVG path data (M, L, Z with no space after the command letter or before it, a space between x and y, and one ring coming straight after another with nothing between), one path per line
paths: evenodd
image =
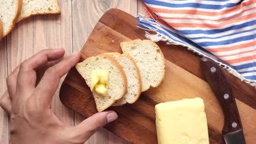
M5 79L14 68L43 49L63 47L66 56L82 49L92 28L110 8L136 16L146 14L141 0L59 0L61 15L39 15L16 24L0 41L0 97L6 91ZM62 77L62 81L63 81ZM62 105L59 88L54 95L53 111L64 123L77 125L83 117ZM0 108L0 143L8 143L9 118ZM106 129L100 129L86 143L128 143Z

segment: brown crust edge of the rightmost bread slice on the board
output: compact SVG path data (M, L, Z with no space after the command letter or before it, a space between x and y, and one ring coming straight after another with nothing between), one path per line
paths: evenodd
M121 50L124 52L124 50L123 50L123 45L124 45L124 44L131 44L131 43L134 43L134 42L136 42L136 41L138 41L138 42L148 41L148 42L151 43L152 45L155 45L155 46L156 46L156 49L159 50L159 53L160 53L162 59L164 59L164 73L162 73L161 79L160 79L159 83L157 83L155 86L152 86L152 85L150 84L150 87L158 87L158 86L160 85L161 81L164 79L165 73L166 73L166 70L165 70L165 69L166 69L166 64L165 64L165 57L164 57L164 54L162 53L160 47L159 47L154 41L148 40L148 39L146 39L146 40L135 39L135 40L132 40L132 41L125 41L125 42L122 42L122 43L120 43ZM145 91L147 91L147 89L146 89ZM143 91L143 92L144 92L144 91Z

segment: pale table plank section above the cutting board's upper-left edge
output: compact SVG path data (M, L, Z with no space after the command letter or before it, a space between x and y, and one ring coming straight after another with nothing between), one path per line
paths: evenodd
M72 2L73 49L81 50L100 17L110 8L137 15L137 0L77 0Z

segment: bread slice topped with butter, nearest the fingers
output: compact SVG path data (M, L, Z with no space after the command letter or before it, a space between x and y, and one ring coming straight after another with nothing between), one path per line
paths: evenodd
M116 100L123 97L127 91L127 80L121 65L112 56L98 55L89 57L85 61L75 65L78 73L85 79L86 84L91 86L91 75L93 70L106 70L109 72L108 87L106 95L92 91L97 110L103 111L111 106Z

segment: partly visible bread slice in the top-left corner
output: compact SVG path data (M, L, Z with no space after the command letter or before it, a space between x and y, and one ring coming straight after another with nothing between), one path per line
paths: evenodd
M3 23L3 37L7 35L17 21L22 7L22 0L1 0L0 19Z

